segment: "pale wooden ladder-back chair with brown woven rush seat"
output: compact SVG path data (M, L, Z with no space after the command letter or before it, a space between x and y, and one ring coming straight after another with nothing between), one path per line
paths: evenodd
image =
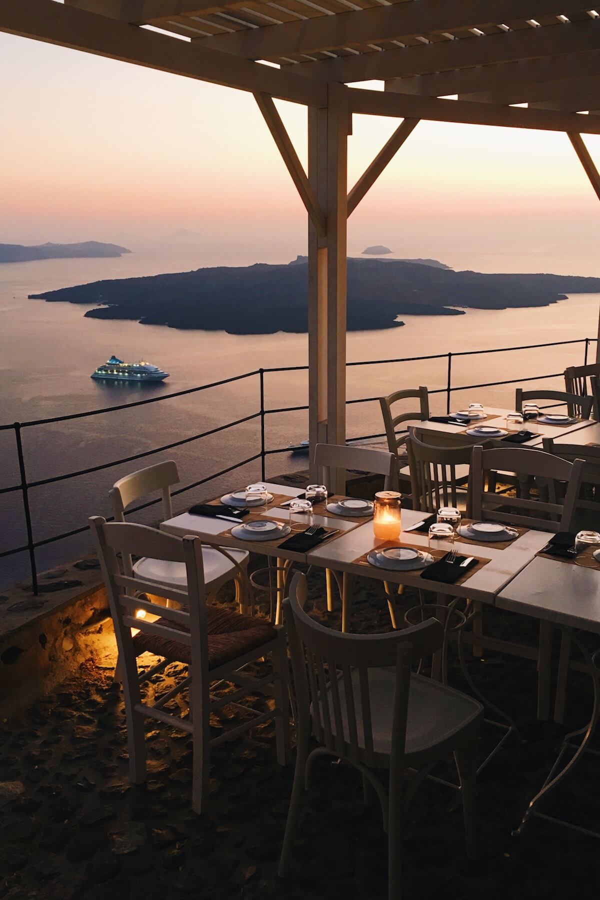
M134 784L146 780L144 719L153 718L193 735L193 810L204 811L208 800L210 748L274 718L277 760L286 765L289 754L288 658L285 632L279 626L258 617L240 616L226 608L206 603L202 571L203 547L199 537L175 537L155 528L133 523L107 523L99 516L90 519L95 535L103 579L111 608L112 623L123 672L130 779ZM167 599L180 608L164 608L149 599L139 599L131 591L152 591L154 584L132 578L122 570L132 555L152 557L165 563L184 566L186 587L172 584L161 588ZM146 617L137 617L143 610ZM157 617L157 618L155 618ZM135 636L132 629L139 629ZM138 657L154 653L162 662L138 672ZM241 671L248 662L271 655L272 671L255 679ZM185 663L188 677L166 691L154 705L142 702L140 683L165 668L168 662ZM210 683L225 680L237 690L223 698L210 696ZM183 689L189 690L190 714L172 716L165 704ZM252 717L219 737L210 740L210 714L220 707L262 692L274 698L274 708L265 713L249 710Z

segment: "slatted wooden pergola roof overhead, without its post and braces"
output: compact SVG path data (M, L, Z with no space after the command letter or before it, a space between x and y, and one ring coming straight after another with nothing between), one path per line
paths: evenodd
M381 79L352 112L600 133L573 115L600 109L583 0L0 0L0 30L306 105Z

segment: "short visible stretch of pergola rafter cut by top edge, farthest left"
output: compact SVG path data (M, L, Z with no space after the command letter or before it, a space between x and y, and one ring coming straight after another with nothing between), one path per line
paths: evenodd
M179 15L208 15L226 6L246 5L244 0L65 0L65 4L133 25L160 25Z

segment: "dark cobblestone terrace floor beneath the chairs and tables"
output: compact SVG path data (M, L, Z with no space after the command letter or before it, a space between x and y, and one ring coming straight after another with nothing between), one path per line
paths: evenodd
M314 615L322 583L311 579ZM407 596L405 605L415 598ZM354 629L390 627L385 599L363 581ZM533 623L490 611L486 630L534 643ZM539 787L562 730L535 720L533 662L490 655L470 669L490 698L515 716L523 743L511 740L479 779L479 860L463 851L457 794L425 782L407 823L405 900L598 896L593 838L533 820L511 837L526 798ZM150 691L181 678L170 666ZM462 687L454 669L451 683ZM591 704L583 678L569 699L573 721ZM256 700L260 706L261 700ZM240 715L225 707L224 717ZM213 719L215 734L223 722ZM292 767L277 766L273 726L212 754L211 804L193 815L188 734L148 721L148 783L131 786L121 690L107 669L90 664L21 716L0 724L0 897L10 900L179 900L286 898L383 900L386 841L375 807L363 806L353 770L322 761L307 795L292 877L276 876L291 792ZM488 746L491 731L483 745ZM593 757L590 758L593 761ZM594 764L596 765L596 764ZM597 769L586 762L549 805L598 827ZM451 772L451 770L449 770Z

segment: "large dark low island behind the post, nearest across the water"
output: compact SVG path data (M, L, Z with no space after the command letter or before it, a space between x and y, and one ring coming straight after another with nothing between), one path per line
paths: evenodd
M230 334L307 330L308 265L217 266L174 275L99 281L30 294L32 300L95 306L91 319L138 320ZM347 327L403 325L401 315L458 316L464 309L549 306L568 293L598 293L600 278L486 275L396 259L348 259Z

